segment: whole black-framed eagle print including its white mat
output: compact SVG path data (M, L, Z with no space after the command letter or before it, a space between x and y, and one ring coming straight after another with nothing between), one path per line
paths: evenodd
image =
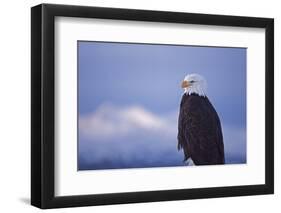
M31 204L274 191L274 21L31 9Z

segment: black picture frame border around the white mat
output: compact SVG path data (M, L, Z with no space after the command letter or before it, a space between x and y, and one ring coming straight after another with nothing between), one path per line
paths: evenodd
M265 184L92 195L54 195L54 18L83 17L264 28ZM274 193L274 20L271 18L41 4L31 8L31 204L42 209Z

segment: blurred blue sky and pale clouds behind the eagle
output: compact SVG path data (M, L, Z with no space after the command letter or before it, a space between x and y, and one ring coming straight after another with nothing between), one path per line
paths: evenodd
M227 163L246 162L246 49L78 42L78 169L184 165L177 118L198 73L223 128Z

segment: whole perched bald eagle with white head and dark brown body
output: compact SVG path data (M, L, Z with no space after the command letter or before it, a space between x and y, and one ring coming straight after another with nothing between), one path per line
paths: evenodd
M224 164L224 145L219 116L206 96L206 80L187 75L178 119L178 150L188 165Z

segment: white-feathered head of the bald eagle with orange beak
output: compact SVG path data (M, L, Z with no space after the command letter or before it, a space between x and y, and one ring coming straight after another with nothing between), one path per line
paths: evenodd
M195 93L200 96L206 96L207 82L201 75L189 74L185 76L181 87L184 89L184 93L188 95Z

